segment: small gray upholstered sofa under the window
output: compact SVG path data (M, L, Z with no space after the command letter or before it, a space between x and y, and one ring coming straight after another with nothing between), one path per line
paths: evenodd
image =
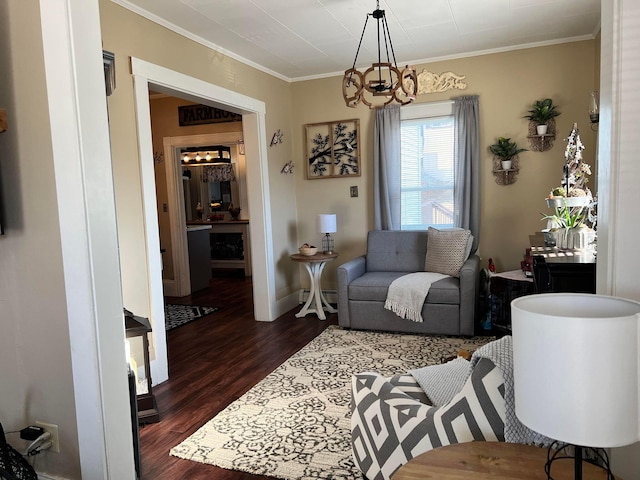
M346 328L441 335L473 335L480 259L471 254L460 278L431 285L423 322L400 318L384 308L389 285L407 273L424 270L426 231L375 230L367 253L338 267L338 323Z

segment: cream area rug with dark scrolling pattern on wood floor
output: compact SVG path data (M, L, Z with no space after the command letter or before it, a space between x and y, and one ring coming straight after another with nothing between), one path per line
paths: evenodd
M330 326L171 455L286 480L361 479L351 459L351 376L405 373L491 340Z

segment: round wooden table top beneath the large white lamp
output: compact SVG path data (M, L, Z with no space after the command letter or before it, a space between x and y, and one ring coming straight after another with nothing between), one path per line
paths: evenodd
M417 456L392 480L547 480L546 461L546 448L506 442L458 443ZM551 475L554 480L573 480L573 459L553 462ZM607 480L607 474L583 462L582 478Z

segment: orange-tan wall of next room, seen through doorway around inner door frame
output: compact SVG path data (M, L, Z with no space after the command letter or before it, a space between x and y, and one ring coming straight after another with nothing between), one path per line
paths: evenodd
M194 102L175 97L160 97L152 98L149 103L151 106L151 133L153 136L154 156L157 153L164 152L163 140L165 137L242 132L242 122L209 123L181 127L178 121L178 107L191 105ZM163 158L163 160L166 161L166 158ZM173 257L170 254L172 248L171 226L169 214L163 211L162 208L163 204L170 203L167 196L167 174L164 161L154 164L158 200L158 226L160 228L160 245L166 250L166 253L162 256L162 276L165 279L173 280ZM241 206L238 205L238 200L236 199L236 206Z

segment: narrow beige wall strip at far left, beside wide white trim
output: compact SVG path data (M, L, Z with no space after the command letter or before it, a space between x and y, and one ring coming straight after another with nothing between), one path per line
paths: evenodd
M38 3L0 2L0 107L9 118L0 133L0 421L6 431L57 424L61 453L41 455L38 469L80 478L43 61Z

